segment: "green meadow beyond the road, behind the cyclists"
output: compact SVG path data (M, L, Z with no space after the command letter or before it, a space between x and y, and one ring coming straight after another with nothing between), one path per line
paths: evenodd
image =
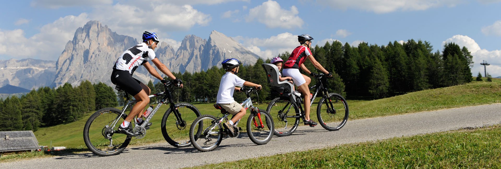
M318 99L317 99L318 101ZM501 81L476 82L452 86L446 88L423 90L391 98L361 101L348 100L350 116L348 120L388 116L420 111L440 110L454 107L474 106L482 104L501 103ZM214 109L213 104L194 104L203 114L216 115L219 110ZM266 109L268 104L255 105L261 109ZM160 131L163 112L168 105L162 105L159 111L150 121L153 123L151 129L147 131L143 139L136 139L131 144L151 143L164 141ZM316 104L312 106L312 119L316 119ZM53 127L41 128L35 132L39 145L65 146L67 148L86 148L83 142L83 128L89 116L94 112L89 112L85 117L76 122L57 125ZM239 126L245 129L246 116L240 121ZM189 127L187 127L189 129ZM177 136L186 137L187 136Z

